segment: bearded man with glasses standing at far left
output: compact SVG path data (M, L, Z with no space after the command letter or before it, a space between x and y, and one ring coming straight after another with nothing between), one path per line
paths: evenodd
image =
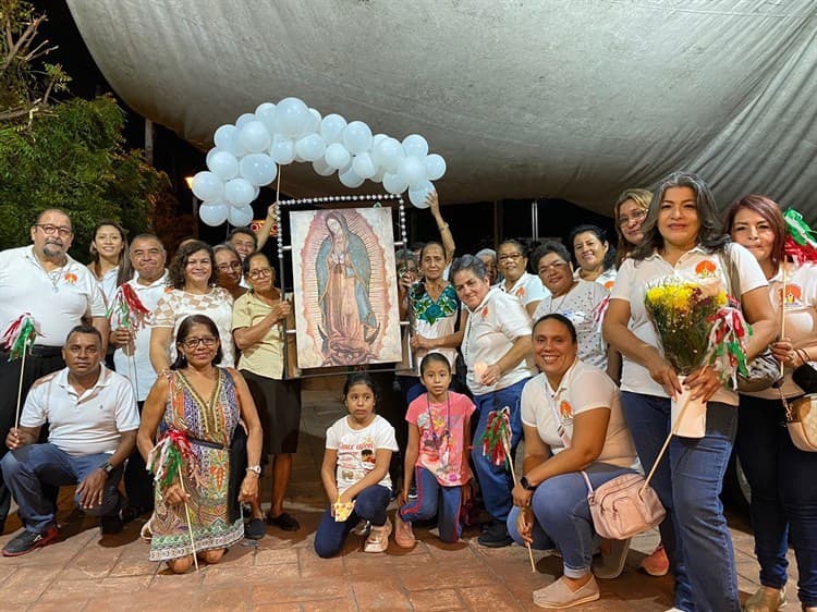
M21 397L36 379L65 367L62 342L83 320L99 331L102 354L108 342L102 292L88 268L68 255L74 237L69 216L57 208L44 210L31 235L34 244L0 252L0 329L25 314L37 327L25 359ZM9 353L0 350L0 439L14 425L17 402L12 390L21 384L21 364L22 359L10 362ZM0 448L0 457L5 452ZM11 494L0 478L0 529L10 504Z

